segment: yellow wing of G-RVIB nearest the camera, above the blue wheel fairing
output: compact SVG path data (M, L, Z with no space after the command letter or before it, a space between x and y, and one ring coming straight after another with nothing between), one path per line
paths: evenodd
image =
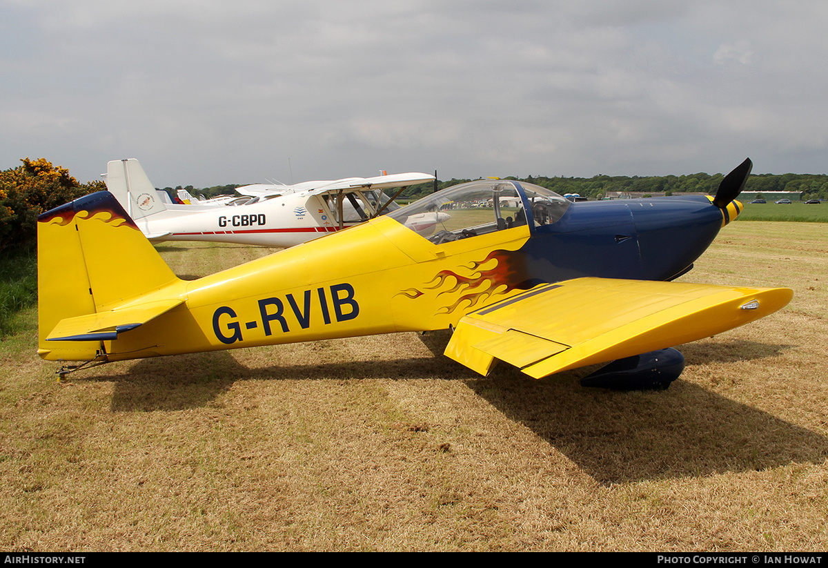
M578 278L465 315L445 354L481 374L501 359L542 378L732 330L792 297L787 288Z

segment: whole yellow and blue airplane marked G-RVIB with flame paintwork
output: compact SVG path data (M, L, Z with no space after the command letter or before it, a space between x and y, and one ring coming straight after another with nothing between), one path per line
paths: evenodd
M84 362L63 376L123 359L450 329L445 354L482 374L498 360L534 378L615 361L592 384L666 387L684 366L668 348L792 298L670 282L739 214L751 167L725 176L715 198L572 203L524 182L474 181L195 281L176 277L109 192L87 195L38 219L38 353ZM437 213L428 236L406 224Z

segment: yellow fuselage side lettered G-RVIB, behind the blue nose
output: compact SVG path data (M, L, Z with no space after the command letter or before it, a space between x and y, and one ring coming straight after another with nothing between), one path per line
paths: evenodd
M110 224L110 219L99 214L77 222ZM127 224L117 229L137 233ZM479 302L515 293L510 282L486 277L487 271L497 272L493 269L501 262L486 258L493 249L517 250L527 238L529 229L522 226L438 247L397 221L381 217L199 280L174 278L141 296L108 301L98 311L123 310L138 303L182 303L115 340L45 341L41 336L41 356L84 360L103 351L108 360L139 359L447 329ZM118 239L112 246L118 247ZM118 255L117 250L104 256L113 255ZM448 273L454 276L440 276ZM41 333L48 332L42 329L44 324Z

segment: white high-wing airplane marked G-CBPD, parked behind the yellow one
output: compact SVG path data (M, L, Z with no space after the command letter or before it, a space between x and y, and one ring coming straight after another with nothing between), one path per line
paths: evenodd
M214 241L292 247L386 214L399 205L394 198L408 185L433 181L429 174L411 172L352 177L336 181L306 181L285 185L281 192L261 191L226 203L178 205L164 200L134 158L107 165L107 189L152 242ZM248 186L250 187L250 186ZM383 190L401 188L392 197ZM410 228L427 237L449 214L431 212L409 219Z

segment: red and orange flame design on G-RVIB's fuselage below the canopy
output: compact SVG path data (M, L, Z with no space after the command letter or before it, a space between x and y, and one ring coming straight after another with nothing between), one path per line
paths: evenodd
M437 291L437 297L458 291L462 293L450 305L441 307L438 314L450 314L463 305L469 309L487 300L490 296L505 294L524 287L522 283L525 282L526 271L522 258L522 254L517 251L494 250L484 260L474 261L462 267L469 274L464 276L453 270L441 270L422 287L425 290ZM492 267L480 269L492 260L495 261ZM425 294L416 288L408 288L400 293L412 300Z

